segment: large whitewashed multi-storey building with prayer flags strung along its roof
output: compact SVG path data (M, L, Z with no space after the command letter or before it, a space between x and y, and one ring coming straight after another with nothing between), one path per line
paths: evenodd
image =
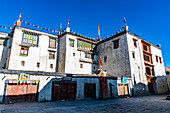
M145 41L129 31L128 26L124 26L122 32L105 40L101 41L99 36L99 40L96 41L70 32L70 27L66 27L64 33L54 35L20 25L21 22L17 21L9 34L0 32L0 68L5 71L0 72L0 85L3 87L8 86L5 83L7 81L7 83L11 80L12 83L14 80L17 81L20 73L28 73L29 80L35 80L39 84L35 87L39 92L38 101L50 101L57 98L50 96L55 93L51 90L54 89L53 85L56 81L51 80L56 79L58 75L67 75L74 76L72 80L77 81L76 99L83 99L87 96L85 92L81 96L78 93L83 91L82 88L86 85L87 87L93 86L93 83L96 85L94 88L95 98L97 98L102 95L100 91L98 92L100 85L92 79L99 76L98 69L101 68L106 73L105 77L117 77L117 82L114 83L121 83L121 78L126 77L129 95L167 92L160 45ZM100 66L101 60L102 67ZM81 77L92 78L85 80ZM46 88L48 83L51 85ZM107 84L111 82L107 81ZM110 87L108 86L108 95L114 93L109 90ZM44 88L46 89L43 90ZM119 92L119 88L114 91ZM7 92L8 89L4 91L2 88L0 95L8 97ZM10 91L8 93L11 94ZM3 96L0 99L1 101L7 100Z

